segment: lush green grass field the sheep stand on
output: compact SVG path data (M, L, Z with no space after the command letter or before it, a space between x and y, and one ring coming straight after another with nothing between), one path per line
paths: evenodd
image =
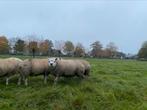
M29 78L17 86L17 77L0 80L0 110L147 110L147 62L87 59L88 79L61 78L53 86L49 76Z

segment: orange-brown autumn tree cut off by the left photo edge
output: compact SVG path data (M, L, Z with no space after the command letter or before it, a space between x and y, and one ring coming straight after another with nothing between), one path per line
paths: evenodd
M0 54L9 53L8 39L5 36L0 36Z

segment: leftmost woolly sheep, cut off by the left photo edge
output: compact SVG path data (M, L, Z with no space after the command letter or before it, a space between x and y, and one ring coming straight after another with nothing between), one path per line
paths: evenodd
M22 60L18 58L0 59L0 77L6 77L6 85L9 84L9 77L18 74L18 65Z

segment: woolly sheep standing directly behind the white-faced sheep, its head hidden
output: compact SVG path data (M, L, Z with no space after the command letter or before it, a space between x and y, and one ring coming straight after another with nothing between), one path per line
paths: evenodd
M19 65L19 71L21 72L19 83L21 80L25 81L25 85L28 85L28 76L44 75L44 83L47 83L47 77L50 72L48 66L48 59L26 59Z

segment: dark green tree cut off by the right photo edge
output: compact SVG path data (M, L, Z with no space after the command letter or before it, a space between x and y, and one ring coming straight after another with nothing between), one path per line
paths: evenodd
M147 58L147 41L145 41L142 44L142 47L140 48L140 50L138 52L138 57L139 58Z

